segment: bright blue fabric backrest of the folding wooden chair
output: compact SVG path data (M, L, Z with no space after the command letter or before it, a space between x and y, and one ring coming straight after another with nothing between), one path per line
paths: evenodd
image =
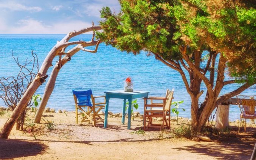
M74 101L77 105L92 106L91 104L92 90L87 90L87 91L72 90L72 91L74 95ZM78 102L76 99L78 99Z

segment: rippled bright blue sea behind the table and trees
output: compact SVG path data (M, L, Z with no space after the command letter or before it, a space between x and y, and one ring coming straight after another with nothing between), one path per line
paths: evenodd
M32 59L31 50L38 56L39 68L48 52L60 41L63 34L0 34L0 77L15 76L19 67L12 58L19 58L22 64L26 58ZM90 41L92 35L79 35L71 40ZM94 49L94 47L88 47ZM54 59L55 65L58 58ZM51 70L48 70L50 76ZM101 43L97 53L80 51L76 53L71 61L65 64L57 76L56 85L48 101L47 107L66 110L74 110L74 99L72 89L88 90L92 89L95 96L104 95L104 91L123 90L124 81L130 76L133 80L134 90L150 91L150 96L165 96L166 89L174 88L174 100L184 101L180 108L179 116L190 117L190 97L180 74L170 67L157 61L154 56L147 56L146 52L139 55L121 52L112 46ZM226 79L229 79L226 76ZM43 95L45 82L41 85L36 94ZM225 86L221 95L235 90L239 84ZM202 86L201 90L205 90ZM244 95L255 95L256 85L248 88ZM205 94L200 98L203 101ZM138 99L138 111L143 114L143 100ZM122 99L110 99L109 111L114 113L122 111ZM0 106L5 106L0 99ZM237 105L230 106L230 120L239 119L239 108ZM172 114L173 115L173 114Z

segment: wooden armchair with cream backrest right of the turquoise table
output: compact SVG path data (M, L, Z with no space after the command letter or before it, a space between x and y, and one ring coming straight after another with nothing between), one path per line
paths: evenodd
M143 128L144 130L148 130L149 127L152 128L160 128L160 131L164 128L164 126L167 126L169 129L171 126L171 103L173 99L173 93L174 89L172 91L166 90L166 96L165 97L149 97L149 98L143 98L144 99L144 116L143 116ZM150 100L151 103L148 104L148 101ZM162 103L154 103L153 100L162 101ZM166 116L169 117L169 119L166 119ZM146 125L146 118L148 117L149 121ZM155 124L152 123L153 117L162 117L163 122L162 124Z

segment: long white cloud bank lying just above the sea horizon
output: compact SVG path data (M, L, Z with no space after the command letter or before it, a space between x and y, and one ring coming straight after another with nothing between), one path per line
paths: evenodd
M0 27L0 34L68 34L73 30L92 26L84 21L57 22L50 25L34 19L20 20L17 27Z

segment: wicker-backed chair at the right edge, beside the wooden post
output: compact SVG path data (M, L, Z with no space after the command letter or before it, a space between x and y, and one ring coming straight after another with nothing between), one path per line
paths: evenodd
M238 104L241 114L240 114L240 123L238 127L238 133L240 131L240 126L243 121L244 123L244 131L246 132L246 119L256 119L256 102L254 99L242 99L242 107L240 103Z

